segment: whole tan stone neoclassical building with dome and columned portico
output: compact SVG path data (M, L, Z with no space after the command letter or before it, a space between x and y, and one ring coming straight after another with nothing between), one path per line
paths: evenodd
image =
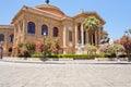
M98 30L84 28L84 20L88 16L95 16L99 21ZM9 52L9 48L15 52L20 42L44 41L46 35L46 38L59 38L63 53L78 53L79 45L81 45L81 53L85 53L86 44L97 46L105 37L104 24L105 21L96 12L82 11L74 16L68 16L51 4L24 5L13 17L11 25L0 26L0 34L5 37L3 45L5 52ZM8 40L10 35L13 35L13 42Z

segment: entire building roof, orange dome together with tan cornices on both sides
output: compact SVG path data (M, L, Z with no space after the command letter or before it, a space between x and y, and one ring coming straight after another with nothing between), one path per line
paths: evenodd
M106 22L96 13L96 12L85 12L82 11L81 13L70 17L67 16L59 8L51 5L51 4L40 4L37 7L26 7L24 5L13 17L12 24L15 22L15 20L23 13L23 12L31 12L39 15L44 15L57 21L64 21L64 20L70 20L72 21L73 18L81 17L81 16L88 16L88 15L94 15L96 16L102 24L105 24Z

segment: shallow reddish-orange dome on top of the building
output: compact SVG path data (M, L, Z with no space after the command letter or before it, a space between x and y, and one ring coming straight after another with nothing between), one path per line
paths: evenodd
M35 7L44 12L47 12L47 13L51 13L51 14L55 14L55 15L58 15L60 17L63 17L64 16L64 13L57 7L55 5L50 5L50 4L40 4L40 5L37 5Z

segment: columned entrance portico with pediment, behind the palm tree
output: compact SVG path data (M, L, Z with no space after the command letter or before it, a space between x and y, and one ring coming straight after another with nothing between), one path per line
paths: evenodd
M99 20L99 25L96 30L87 29L84 27L84 20L91 15ZM74 33L75 33L75 53L78 53L79 46L81 47L81 53L84 52L85 45L99 45L100 38L103 37L103 25L105 22L97 15L95 12L86 13L82 12L79 15L75 15Z

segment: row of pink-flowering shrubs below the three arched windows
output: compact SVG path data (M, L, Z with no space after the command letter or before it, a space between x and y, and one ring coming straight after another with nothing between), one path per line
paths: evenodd
M46 52L48 55L58 54L60 49L61 47L58 39L46 39L45 42L38 40L35 44L19 44L17 47L19 55L21 57L24 57L27 53L41 53L43 51Z

